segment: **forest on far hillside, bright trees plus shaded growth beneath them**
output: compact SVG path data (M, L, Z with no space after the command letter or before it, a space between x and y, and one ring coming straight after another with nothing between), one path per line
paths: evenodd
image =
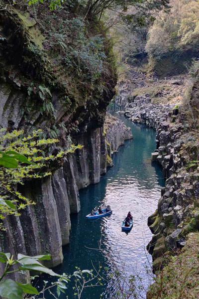
M146 26L117 26L113 31L118 56L130 65L141 62L144 71L158 76L188 72L198 57L198 5L198 1L170 1L171 7L156 12Z

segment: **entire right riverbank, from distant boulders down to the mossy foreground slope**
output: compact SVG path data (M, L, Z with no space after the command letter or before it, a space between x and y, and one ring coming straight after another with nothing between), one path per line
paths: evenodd
M164 81L168 83L166 80ZM191 99L187 98L186 90L193 86L191 79L188 79L187 83L186 80L182 81L180 78L172 79L170 82L177 86L177 90L180 85L183 85L181 88L184 90L183 101L176 102L171 94L167 95L168 101L163 103L159 103L159 101L152 103L151 96L148 94L130 97L130 99L126 97L128 103L125 104L124 111L121 112L132 122L144 123L157 131L156 150L152 153L152 160L157 160L162 165L163 176L166 179L165 187L161 190L158 208L148 218L148 225L154 236L147 249L152 255L154 270L160 271L167 263L170 263L157 277L158 283L156 282L150 288L147 295L148 299L155 295L158 296L158 294L163 297L157 298L165 298L164 296L173 298L174 294L180 296L181 278L178 275L179 272L175 277L175 286L173 285L174 276L169 275L169 273L175 273L178 267L182 267L184 273L187 273L185 276L186 284L190 283L188 279L190 273L193 274L193 279L197 280L197 275L193 272L193 267L197 267L197 263L194 262L195 266L186 263L180 264L181 257L184 259L187 256L189 259L195 260L194 252L190 250L190 244L194 242L198 244L199 134L193 126L197 122L197 118L194 121L194 108L192 107L193 101L196 101L196 92L193 89ZM156 88L157 80L154 80L154 86L151 89ZM136 88L136 92L137 90L139 88ZM131 91L132 93L133 91ZM143 93L143 88L141 88L141 93ZM161 93L162 91L159 92L159 94ZM116 103L121 101L121 95L118 97L120 98L117 100L116 97ZM124 103L124 99L122 101ZM196 233L189 235L190 232ZM178 257L179 250L183 247L182 254ZM176 254L176 263L172 265L174 260L171 255L175 256ZM171 287L170 291L165 277L167 277L168 286ZM161 283L164 285L162 290L160 290ZM189 285L189 289L193 290L194 294L192 298L196 298L195 296L198 294L195 288L194 283ZM182 292L185 291L186 288ZM190 292L187 294L191 294ZM184 296L184 293L182 294Z

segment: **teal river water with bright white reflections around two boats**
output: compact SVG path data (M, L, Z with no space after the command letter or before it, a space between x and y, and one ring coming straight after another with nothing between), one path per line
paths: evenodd
M131 127L133 140L126 141L113 154L114 166L101 175L99 183L80 190L81 211L71 216L70 244L63 248L64 263L55 272L72 274L76 267L91 270L102 266L100 274L105 278L118 270L126 277L138 275L147 288L151 275L146 274L145 267L150 267L151 256L146 251L146 245L152 237L147 218L157 208L165 181L161 167L157 163L152 164L150 159L155 149L156 132L145 125L133 124L123 116L116 116ZM86 219L92 208L107 204L113 210L112 215L96 220ZM126 234L121 231L121 224L128 211L133 215L134 226ZM97 250L100 241L101 251ZM136 278L137 286L139 281ZM113 289L117 291L119 284L114 286L112 280L102 283L100 287L86 288L81 299L113 298L110 291L114 294ZM120 284L126 288L122 279ZM73 283L69 283L69 299L77 298L73 287ZM138 298L145 297L144 294L141 292ZM64 299L66 295L61 294L60 298Z

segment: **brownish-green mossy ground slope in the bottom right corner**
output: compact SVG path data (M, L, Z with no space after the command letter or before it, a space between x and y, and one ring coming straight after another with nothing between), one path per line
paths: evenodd
M187 244L177 256L170 257L168 265L155 277L147 299L199 298L199 233L191 233ZM154 261L156 269L161 258Z

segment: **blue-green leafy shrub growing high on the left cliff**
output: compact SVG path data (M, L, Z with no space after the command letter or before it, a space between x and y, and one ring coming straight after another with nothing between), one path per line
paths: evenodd
M56 18L56 16L55 16ZM69 71L75 71L79 76L97 79L103 70L103 60L106 55L103 51L103 37L100 35L88 36L87 25L82 17L73 19L59 19L58 28L51 28L48 42L55 63L65 65Z

